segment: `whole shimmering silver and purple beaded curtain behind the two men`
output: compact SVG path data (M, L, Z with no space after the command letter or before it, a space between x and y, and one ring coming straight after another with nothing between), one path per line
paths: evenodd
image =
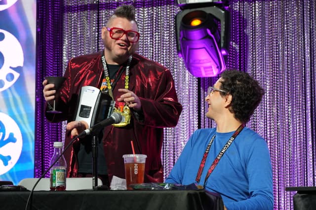
M180 103L178 125L166 128L162 149L166 177L194 130L214 126L205 118L205 91L217 78L197 79L178 58L173 0L39 1L37 56L36 176L48 167L52 142L65 122L43 117L42 78L60 75L70 58L103 49L101 28L122 3L136 7L139 53L173 74ZM246 71L266 90L247 123L268 143L273 164L275 209L293 209L287 186L315 185L316 3L313 0L230 0L231 41L227 67Z

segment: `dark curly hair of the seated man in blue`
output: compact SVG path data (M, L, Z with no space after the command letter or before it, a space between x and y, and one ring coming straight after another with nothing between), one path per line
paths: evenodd
M230 112L236 119L246 123L259 105L265 91L245 72L227 69L220 76L220 89L228 91L233 96ZM224 92L220 93L225 95Z

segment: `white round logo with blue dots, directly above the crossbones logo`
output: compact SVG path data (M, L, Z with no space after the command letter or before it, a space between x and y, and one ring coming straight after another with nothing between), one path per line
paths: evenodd
M24 56L19 41L0 29L0 92L11 87L20 74L12 68L23 66Z

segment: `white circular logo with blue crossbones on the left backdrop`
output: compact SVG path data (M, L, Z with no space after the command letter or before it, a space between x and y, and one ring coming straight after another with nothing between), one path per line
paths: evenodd
M19 126L12 118L0 113L0 175L16 164L21 151L22 135Z

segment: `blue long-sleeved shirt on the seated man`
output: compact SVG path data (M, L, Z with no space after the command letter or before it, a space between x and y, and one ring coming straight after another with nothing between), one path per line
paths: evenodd
M210 165L233 133L218 133L216 128L196 130L165 182L196 182L206 147L215 135L201 179L196 183L203 185ZM206 180L205 189L221 194L227 210L272 210L272 166L266 141L253 130L243 128Z

